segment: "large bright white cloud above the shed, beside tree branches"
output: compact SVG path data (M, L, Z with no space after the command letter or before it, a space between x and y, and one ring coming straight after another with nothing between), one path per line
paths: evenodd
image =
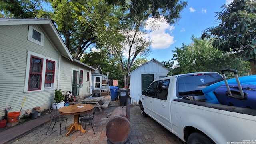
M152 40L152 49L165 49L170 47L175 41L174 41L174 36L171 36L170 34L172 33L172 30L174 30L174 26L170 26L167 24L167 22L162 19L162 20L157 20L157 21L148 21L149 23L156 24L158 29L153 30L150 32L147 36Z

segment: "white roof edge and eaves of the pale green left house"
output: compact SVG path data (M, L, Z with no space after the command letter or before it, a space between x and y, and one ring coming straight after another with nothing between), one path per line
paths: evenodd
M87 64L73 58L51 19L0 18L0 26L29 24L36 24L40 26L44 30L44 34L46 34L60 55L64 56L68 60L82 64L83 66L91 68L92 70L96 70L92 66L88 66Z

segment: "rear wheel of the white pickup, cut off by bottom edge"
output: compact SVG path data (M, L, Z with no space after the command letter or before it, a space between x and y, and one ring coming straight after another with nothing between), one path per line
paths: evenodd
M215 144L210 138L200 132L193 132L188 136L187 144Z

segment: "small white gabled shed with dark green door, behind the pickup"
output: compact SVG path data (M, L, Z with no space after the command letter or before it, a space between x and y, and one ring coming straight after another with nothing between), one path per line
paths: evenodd
M138 104L142 90L147 90L151 82L167 76L169 70L163 66L164 64L153 58L128 74L133 105Z

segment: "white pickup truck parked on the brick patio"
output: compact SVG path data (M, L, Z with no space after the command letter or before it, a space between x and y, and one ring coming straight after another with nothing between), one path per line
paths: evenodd
M256 144L256 110L204 102L202 89L220 82L216 72L154 80L140 96L150 116L187 144Z

